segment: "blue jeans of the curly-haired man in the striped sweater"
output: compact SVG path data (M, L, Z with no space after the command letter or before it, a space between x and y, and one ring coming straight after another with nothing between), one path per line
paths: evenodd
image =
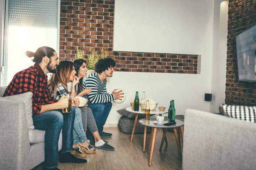
M103 126L105 125L109 112L112 108L112 103L91 103L87 102L88 108L90 108L93 112L93 117L95 119L96 125L98 127L99 132L103 131ZM92 138L91 133L87 130L86 132L87 138Z

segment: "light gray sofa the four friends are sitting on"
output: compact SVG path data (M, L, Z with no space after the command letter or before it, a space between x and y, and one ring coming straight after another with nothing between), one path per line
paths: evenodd
M4 90L0 87L0 97ZM28 129L25 114L23 101L0 99L0 170L31 170L44 162L45 131Z

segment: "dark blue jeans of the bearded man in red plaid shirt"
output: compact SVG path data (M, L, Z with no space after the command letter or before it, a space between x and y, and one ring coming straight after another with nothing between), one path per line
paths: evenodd
M49 169L58 167L58 140L61 129L61 153L73 151L75 109L71 109L71 113L62 113L62 109L46 111L32 118L35 129L45 130L44 166Z

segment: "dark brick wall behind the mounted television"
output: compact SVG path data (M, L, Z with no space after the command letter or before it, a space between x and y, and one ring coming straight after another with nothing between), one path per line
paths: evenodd
M256 23L256 0L229 0L226 99L228 104L256 105L256 82L238 81L236 35Z

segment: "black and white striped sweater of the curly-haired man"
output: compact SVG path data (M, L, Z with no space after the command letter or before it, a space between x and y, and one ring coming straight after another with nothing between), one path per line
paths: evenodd
M83 82L83 89L92 88L90 94L84 95L91 103L106 103L114 100L113 94L108 94L106 89L107 79L102 84L97 73L89 74Z

